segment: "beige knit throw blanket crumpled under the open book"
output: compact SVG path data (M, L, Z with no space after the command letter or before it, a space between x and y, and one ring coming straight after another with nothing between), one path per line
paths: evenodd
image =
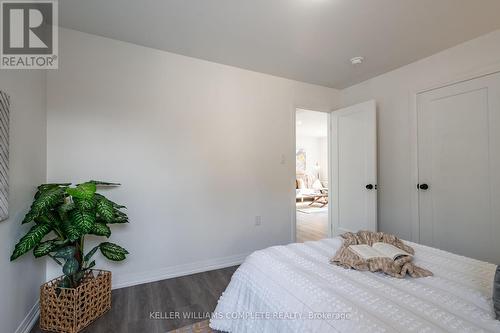
M368 244L372 246L373 243L384 242L392 244L410 254L415 253L413 248L404 244L394 235L383 232L358 231L357 233L347 232L341 235L341 237L344 243L335 256L330 259L330 263L332 264L344 268L353 268L359 271L382 271L397 278L404 278L406 274L414 278L432 275L432 272L415 266L412 262L413 258L410 256L403 256L396 260L390 258L372 258L365 260L349 249L349 245Z

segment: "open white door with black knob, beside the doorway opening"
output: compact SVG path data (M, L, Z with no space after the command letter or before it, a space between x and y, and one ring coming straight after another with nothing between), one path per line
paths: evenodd
M377 230L377 112L375 101L332 112L333 234Z

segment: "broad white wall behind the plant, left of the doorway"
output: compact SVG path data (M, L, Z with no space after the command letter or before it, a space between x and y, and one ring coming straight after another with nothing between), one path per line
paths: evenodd
M330 110L338 91L72 30L60 38L47 81L48 178L123 184L109 195L131 223L112 241L131 254L98 263L116 285L290 242L293 113Z

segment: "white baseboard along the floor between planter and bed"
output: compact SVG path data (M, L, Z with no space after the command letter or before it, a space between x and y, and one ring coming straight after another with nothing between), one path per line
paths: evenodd
M250 253L229 257L209 259L204 261L165 267L141 273L123 274L113 278L113 289L131 287L138 284L155 282L174 277L211 271L241 264Z

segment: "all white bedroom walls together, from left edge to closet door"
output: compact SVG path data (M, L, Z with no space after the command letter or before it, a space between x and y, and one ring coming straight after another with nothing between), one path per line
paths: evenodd
M50 181L123 183L109 195L129 206L132 223L116 226L112 240L131 255L123 264L100 261L119 285L289 242L292 113L335 108L338 91L66 29L60 44L61 68L47 79L47 146L44 73L0 73L13 102L10 218L0 222L1 332L27 324L45 280L41 260L8 256L28 228L19 223L46 166ZM378 102L381 230L411 237L412 93L497 66L500 31L342 91L345 106ZM255 215L262 226L254 226Z

